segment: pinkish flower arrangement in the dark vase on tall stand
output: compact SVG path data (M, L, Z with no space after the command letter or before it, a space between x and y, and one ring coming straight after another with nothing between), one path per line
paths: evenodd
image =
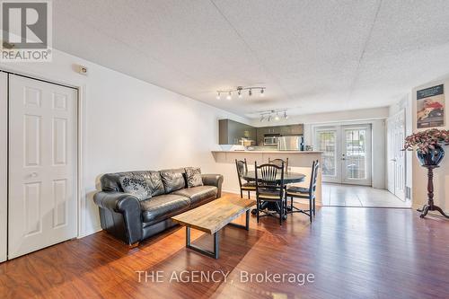
M449 145L449 130L431 128L407 136L405 138L404 150L411 151L416 148L418 152L427 154L441 144Z

